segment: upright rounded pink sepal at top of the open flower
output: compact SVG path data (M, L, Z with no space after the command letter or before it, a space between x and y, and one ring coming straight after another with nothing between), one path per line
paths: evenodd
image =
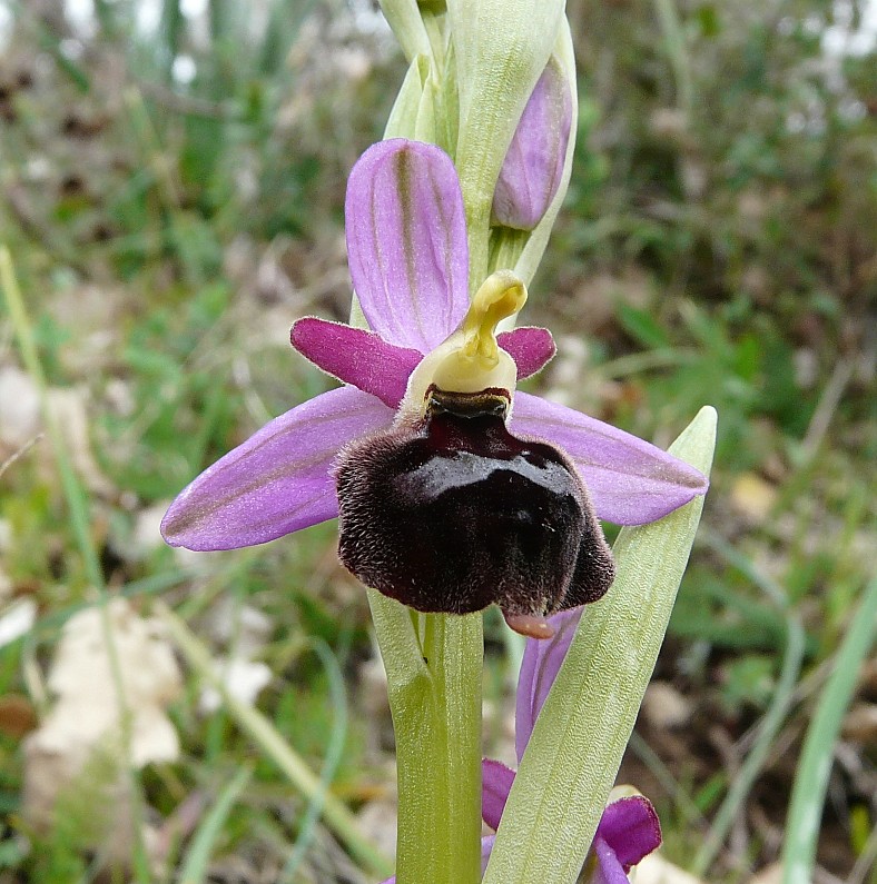
M451 158L394 138L351 171L345 203L353 286L373 331L428 352L469 306L463 195Z

